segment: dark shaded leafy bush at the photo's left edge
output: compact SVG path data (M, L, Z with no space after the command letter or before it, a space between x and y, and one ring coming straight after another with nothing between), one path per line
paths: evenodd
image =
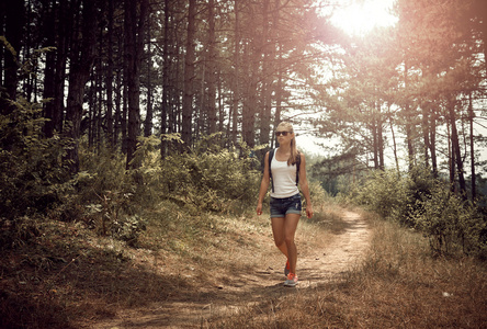
M42 134L41 103L20 99L0 115L0 213L7 219L48 211L72 189L63 160L71 141Z

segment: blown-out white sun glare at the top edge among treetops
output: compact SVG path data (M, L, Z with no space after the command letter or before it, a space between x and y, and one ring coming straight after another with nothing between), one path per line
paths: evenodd
M375 26L394 25L397 18L390 13L395 0L347 0L331 18L333 25L350 35L364 35Z

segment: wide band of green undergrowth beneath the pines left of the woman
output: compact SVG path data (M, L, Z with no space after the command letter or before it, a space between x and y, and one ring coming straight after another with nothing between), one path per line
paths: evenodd
M125 169L122 154L102 149L98 154L84 144L80 148L82 171L76 175L77 193L68 208L81 211L71 219L83 220L101 235L136 243L152 218L168 202L186 214L203 212L240 213L248 209L258 193L261 173L249 149L228 150L208 136L192 151L160 157L160 139L140 137L134 161ZM173 135L173 141L179 137ZM206 147L208 146L208 147ZM211 147L209 147L211 146ZM242 155L242 156L241 156ZM184 225L180 215L175 225Z

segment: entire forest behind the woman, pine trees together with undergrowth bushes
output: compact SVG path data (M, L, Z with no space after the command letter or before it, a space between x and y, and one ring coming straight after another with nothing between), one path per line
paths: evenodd
M288 121L318 140L314 202L485 261L487 2L396 0L361 36L340 2L2 1L0 250L53 223L137 247L162 209L183 230L248 214Z

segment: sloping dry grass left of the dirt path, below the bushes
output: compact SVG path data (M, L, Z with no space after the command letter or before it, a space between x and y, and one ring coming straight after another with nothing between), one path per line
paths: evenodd
M170 202L145 214L135 246L82 223L31 220L0 257L0 328L92 328L121 310L214 298L227 277L274 257L263 217L194 213ZM202 288L203 287L203 288Z

